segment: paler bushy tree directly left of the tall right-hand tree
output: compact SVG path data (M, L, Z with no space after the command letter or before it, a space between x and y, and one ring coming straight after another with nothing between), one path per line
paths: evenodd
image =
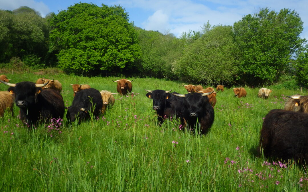
M184 50L172 72L194 83L229 84L237 74L232 26L214 26Z

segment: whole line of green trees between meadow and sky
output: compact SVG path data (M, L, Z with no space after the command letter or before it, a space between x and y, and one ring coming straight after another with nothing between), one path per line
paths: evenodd
M287 76L308 87L308 46L294 10L263 8L233 26L207 22L179 38L138 28L128 17L120 5L91 3L45 18L26 6L0 10L0 62L203 84L262 85Z

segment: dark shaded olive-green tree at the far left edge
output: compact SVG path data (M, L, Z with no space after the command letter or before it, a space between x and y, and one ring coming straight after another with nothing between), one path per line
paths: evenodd
M41 64L48 50L49 28L39 12L26 6L0 10L0 62L20 57L29 65Z

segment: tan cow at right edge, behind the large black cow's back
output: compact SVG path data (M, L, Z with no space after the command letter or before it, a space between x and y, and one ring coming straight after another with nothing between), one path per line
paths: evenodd
M286 101L284 110L308 113L308 96L292 95Z

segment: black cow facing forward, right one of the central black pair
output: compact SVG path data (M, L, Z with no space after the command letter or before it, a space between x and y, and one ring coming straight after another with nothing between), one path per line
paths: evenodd
M176 96L184 97L180 116L182 125L193 132L197 129L199 134L207 134L214 122L214 109L209 103L207 95L213 92L175 94Z

